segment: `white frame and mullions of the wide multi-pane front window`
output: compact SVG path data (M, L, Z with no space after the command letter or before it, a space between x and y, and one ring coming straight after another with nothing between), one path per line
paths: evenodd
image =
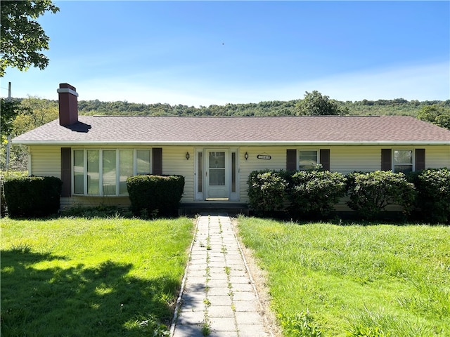
M101 148L72 148L72 167L71 167L71 194L74 196L85 196L85 197L125 197L128 195L128 193L120 194L120 151L121 150L132 150L133 151L133 175L136 176L137 173L137 152L139 150L148 151L149 152L149 166L150 166L150 174L153 170L153 155L152 155L152 149L151 148L139 148L139 149L132 149L132 148L108 148L108 147L101 147ZM74 160L74 154L75 151L83 151L83 193L75 193L75 185L74 185L74 166L75 166L75 160ZM98 194L88 194L87 192L87 151L97 151L98 152ZM116 177L115 177L115 194L103 194L103 151L115 151L115 171L116 171Z

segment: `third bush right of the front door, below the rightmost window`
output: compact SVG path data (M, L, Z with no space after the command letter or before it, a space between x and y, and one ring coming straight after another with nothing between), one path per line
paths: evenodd
M413 210L416 190L404 173L375 171L347 175L349 207L364 219L375 220L386 206L398 204L408 215Z

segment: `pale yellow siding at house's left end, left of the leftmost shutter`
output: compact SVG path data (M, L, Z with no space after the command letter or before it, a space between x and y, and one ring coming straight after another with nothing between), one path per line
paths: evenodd
M53 176L61 178L61 147L32 146L31 172L34 176Z

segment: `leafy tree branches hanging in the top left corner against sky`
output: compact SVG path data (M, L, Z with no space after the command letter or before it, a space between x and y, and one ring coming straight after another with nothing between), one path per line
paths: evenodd
M56 13L59 8L51 0L0 2L0 77L6 67L24 71L49 65L49 58L41 53L49 49L49 37L36 20L46 11Z

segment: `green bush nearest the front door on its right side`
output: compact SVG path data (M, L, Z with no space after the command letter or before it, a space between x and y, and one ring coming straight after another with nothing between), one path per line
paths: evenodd
M270 216L283 209L288 182L283 171L252 171L248 177L250 209L260 216Z

